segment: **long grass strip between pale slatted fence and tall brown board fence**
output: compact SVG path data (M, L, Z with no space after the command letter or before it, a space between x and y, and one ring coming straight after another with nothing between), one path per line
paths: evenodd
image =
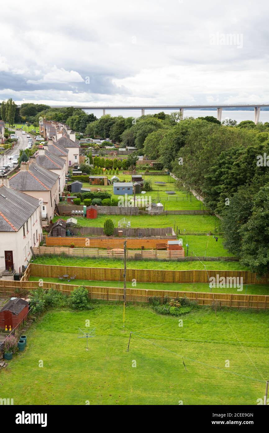
M83 266L85 268L122 268L123 261L118 259L92 259L88 257L68 257L58 256L38 256L34 263L42 265L59 265L59 266ZM223 270L223 271L248 271L248 269L239 262L155 262L155 260L128 260L127 268L129 269L170 269L172 271L184 271L188 269Z

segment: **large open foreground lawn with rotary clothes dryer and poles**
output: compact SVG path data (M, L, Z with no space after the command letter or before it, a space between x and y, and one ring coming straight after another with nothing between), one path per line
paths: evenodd
M118 304L47 312L1 371L1 397L15 405L256 405L269 377L268 312L201 308L182 318L179 327L178 318L128 305L123 330ZM79 328L95 328L89 351Z

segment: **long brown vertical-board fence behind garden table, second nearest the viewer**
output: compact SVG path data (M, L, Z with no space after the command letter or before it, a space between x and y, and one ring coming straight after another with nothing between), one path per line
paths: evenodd
M82 266L52 266L30 263L30 275L34 277L58 278L59 275L76 275L80 280L123 281L120 268L84 268ZM127 281L140 283L208 283L210 277L243 278L243 284L268 284L269 274L260 280L250 271L168 271L158 269L127 269Z

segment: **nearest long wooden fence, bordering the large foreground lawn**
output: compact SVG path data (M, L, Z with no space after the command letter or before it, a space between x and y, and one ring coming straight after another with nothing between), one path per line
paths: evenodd
M39 284L41 284L41 286ZM0 292L4 294L13 294L14 291L18 289L28 292L38 287L42 287L44 289L54 288L61 291L63 294L70 295L70 293L79 286L75 284L58 284L45 281L41 283L39 283L38 281L0 281ZM85 288L88 290L89 298L91 299L102 299L105 301L123 301L123 288L99 286L85 286ZM269 308L268 295L203 293L151 289L145 290L136 288L126 289L126 299L129 302L149 302L149 297L153 296L161 298L187 297L191 301L195 301L198 305L210 305L212 303L217 303L219 306L236 308Z

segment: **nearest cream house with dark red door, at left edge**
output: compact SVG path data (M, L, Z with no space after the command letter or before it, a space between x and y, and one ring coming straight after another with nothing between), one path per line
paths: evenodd
M0 185L0 278L20 274L31 259L31 247L41 242L41 204L37 198Z

